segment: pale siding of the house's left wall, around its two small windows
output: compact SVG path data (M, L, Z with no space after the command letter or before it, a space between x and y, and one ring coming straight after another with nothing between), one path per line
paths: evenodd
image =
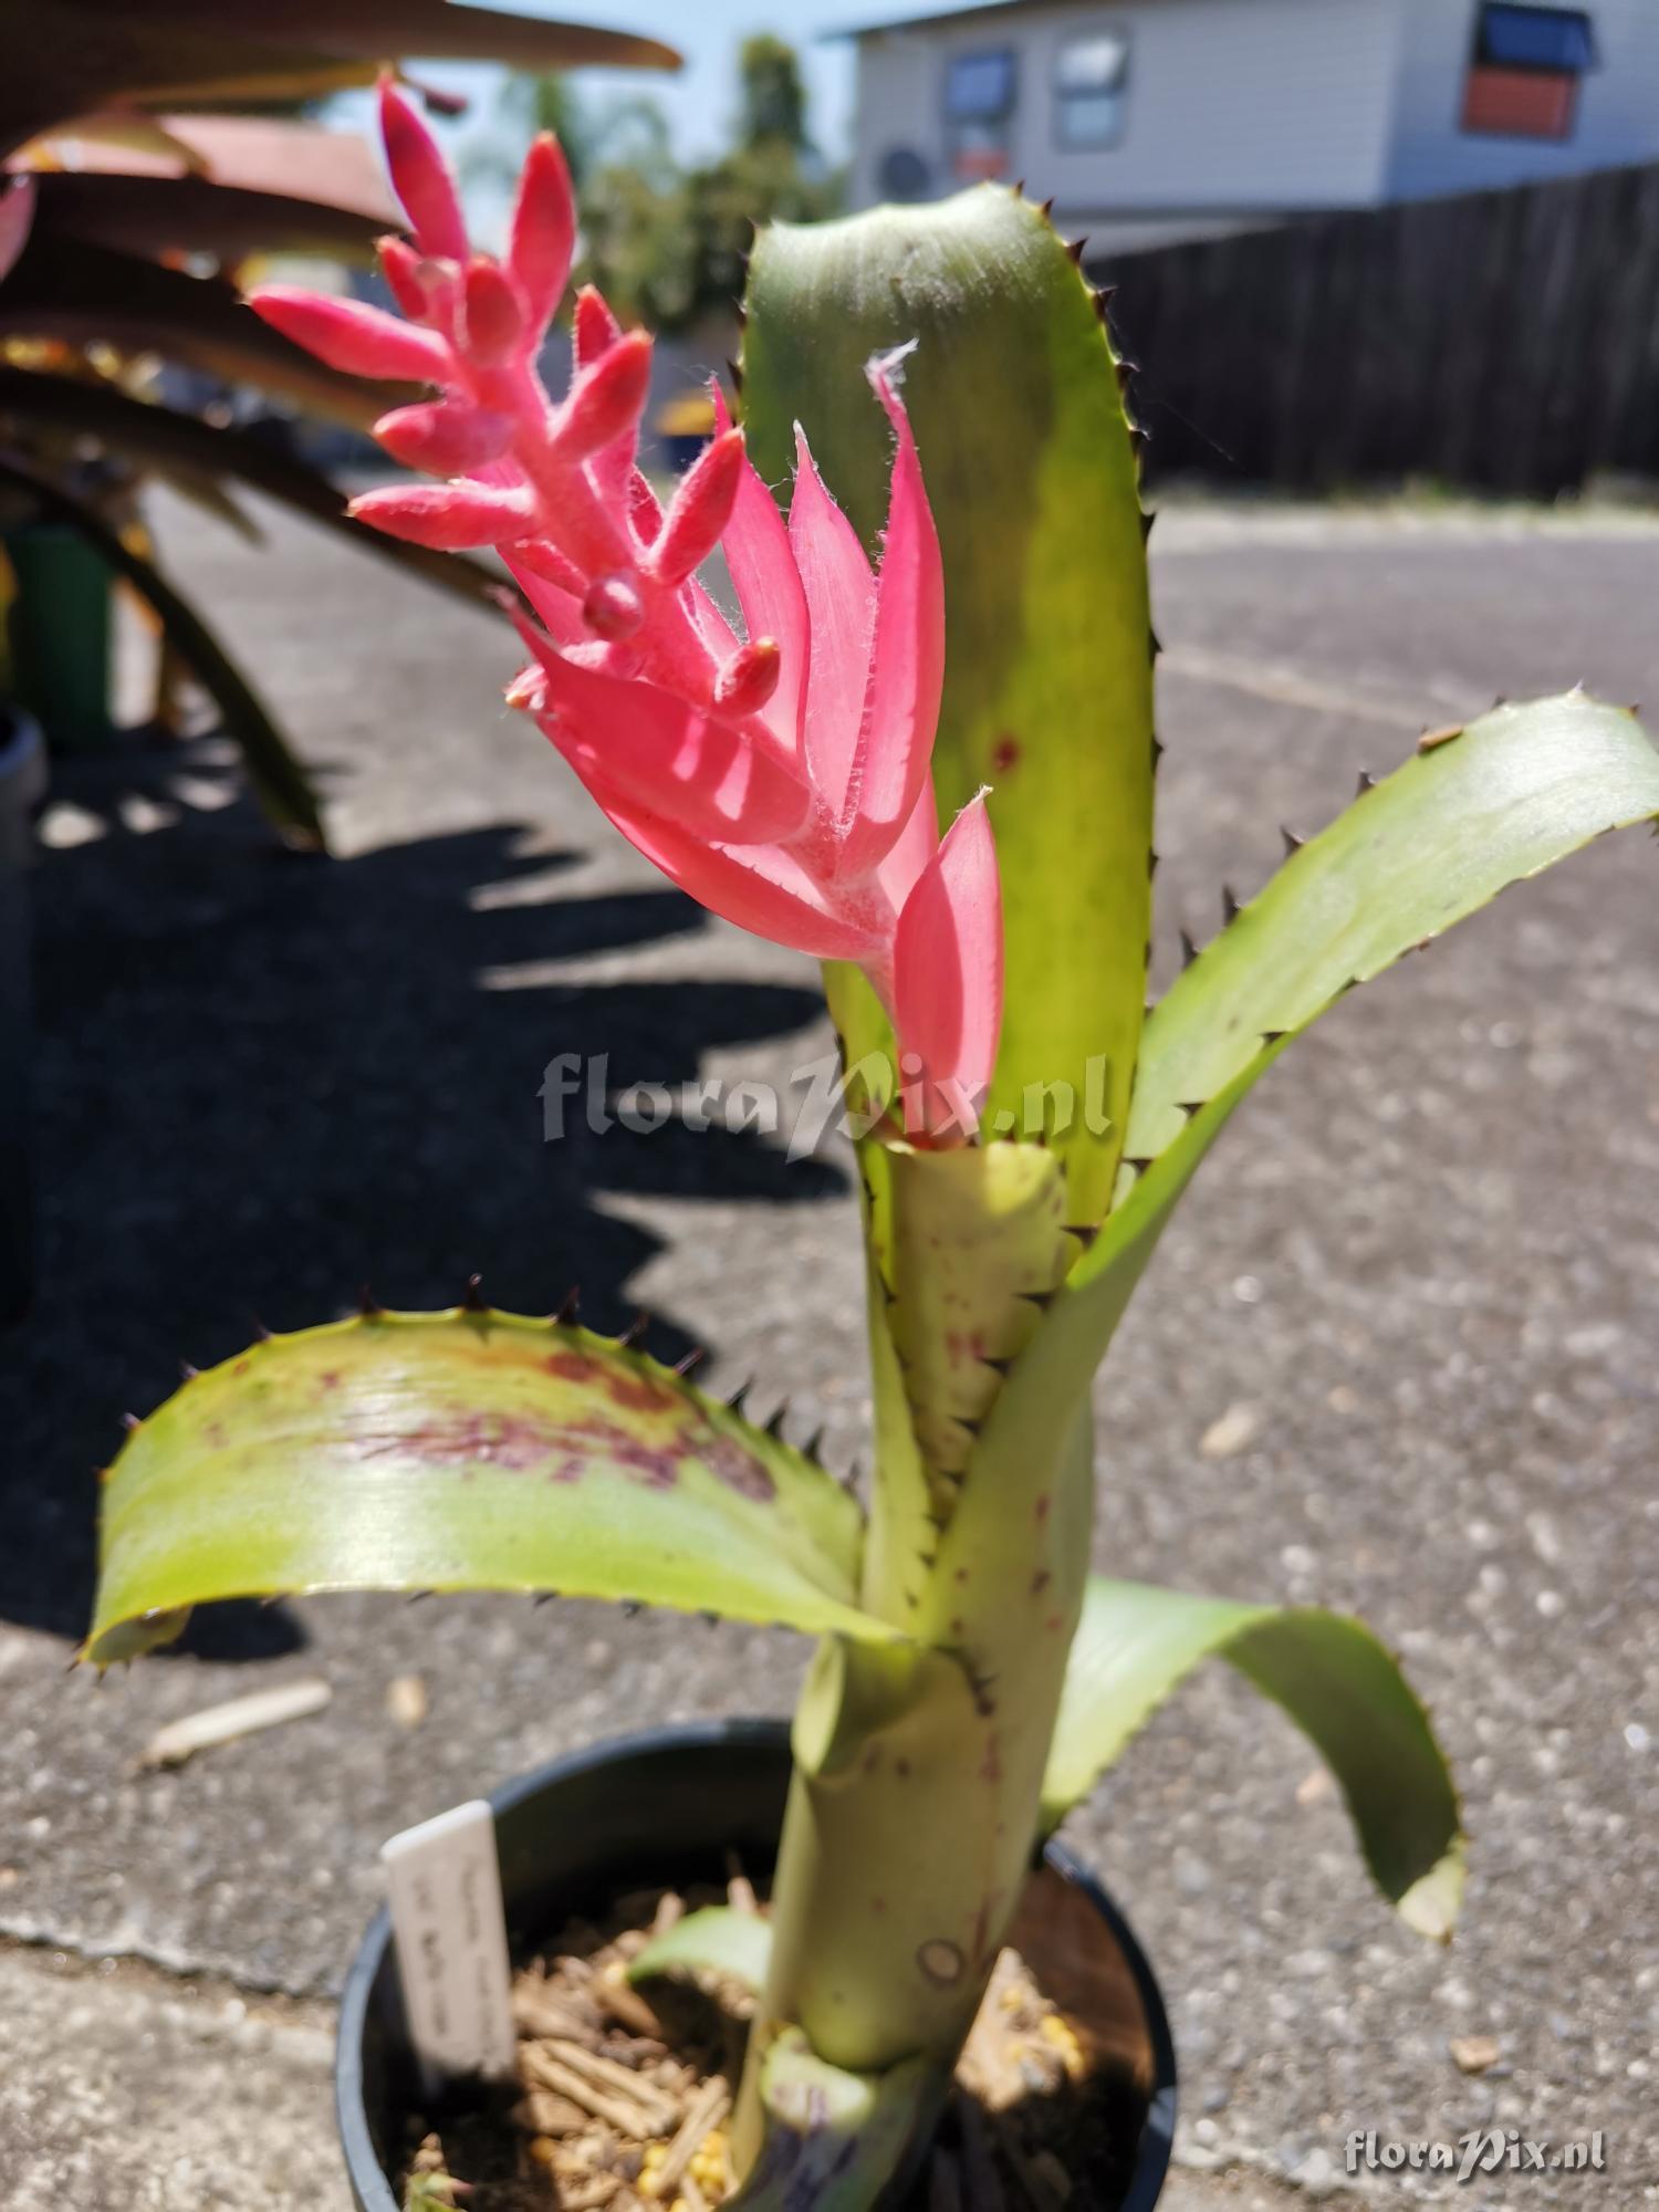
M1659 7L1659 0L1652 0ZM858 206L880 199L880 161L914 148L933 188L953 188L945 69L1011 46L1020 91L1009 177L1053 195L1057 219L1108 217L1152 234L1170 215L1276 215L1383 197L1405 0L1126 0L1020 4L876 31L858 49ZM1091 29L1128 33L1124 131L1115 146L1055 144L1060 46ZM1190 223L1181 226L1188 234Z

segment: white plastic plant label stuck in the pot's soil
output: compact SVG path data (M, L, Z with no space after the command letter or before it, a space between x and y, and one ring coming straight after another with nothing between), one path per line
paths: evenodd
M513 2004L495 1820L476 1798L380 1845L403 2008L429 2090L513 2070Z

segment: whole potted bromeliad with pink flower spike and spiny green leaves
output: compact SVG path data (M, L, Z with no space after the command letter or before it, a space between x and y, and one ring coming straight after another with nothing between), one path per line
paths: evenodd
M719 1916L675 1949L761 1989L741 2201L856 2212L929 2124L1033 1840L1208 1652L1318 1745L1405 1920L1449 1931L1455 1794L1358 1621L1091 1577L1091 1383L1285 1044L1506 883L1659 814L1659 757L1582 695L1438 732L1144 1013L1146 524L1099 303L1046 215L980 188L763 234L743 431L721 418L664 509L635 458L648 341L588 292L568 396L535 374L571 257L557 148L531 155L502 263L469 252L392 95L387 150L407 321L254 305L336 369L436 389L378 431L447 482L358 513L495 546L535 617L513 701L695 898L827 962L872 1121L869 1504L568 1310L372 1310L252 1345L135 1429L88 1655L204 1599L347 1584L818 1637L770 1955ZM790 480L785 522L768 487ZM717 546L741 624L697 580Z

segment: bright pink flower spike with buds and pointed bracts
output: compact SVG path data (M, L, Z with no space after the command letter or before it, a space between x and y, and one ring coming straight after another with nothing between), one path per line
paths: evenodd
M403 321L285 285L257 312L332 367L440 394L376 438L438 484L363 493L376 529L495 546L540 626L507 697L557 745L622 834L692 898L757 936L856 962L894 1020L907 1126L978 1128L1002 1024L1002 907L984 792L938 836L931 752L945 677L938 535L898 356L869 380L896 434L872 571L796 431L787 522L719 392L717 436L664 509L637 465L650 338L575 299L557 403L538 354L564 299L575 206L542 137L507 254L476 254L442 155L383 84L380 124L414 246L380 259ZM721 546L739 635L697 568Z

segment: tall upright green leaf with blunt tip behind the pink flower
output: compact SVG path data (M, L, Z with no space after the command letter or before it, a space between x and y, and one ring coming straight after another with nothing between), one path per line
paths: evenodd
M1106 1210L1144 1004L1152 670L1139 484L1110 347L1042 210L1002 186L754 241L743 420L787 484L792 425L874 549L891 434L865 361L920 341L905 405L945 555L940 821L982 783L1002 867L1006 1013L989 1115L1033 1135L1026 1086L1071 1084L1053 1130L1073 1221ZM847 1060L889 1046L832 971ZM1095 1066L1091 1091L1091 1064ZM1104 1130L1084 1126L1084 1106Z

